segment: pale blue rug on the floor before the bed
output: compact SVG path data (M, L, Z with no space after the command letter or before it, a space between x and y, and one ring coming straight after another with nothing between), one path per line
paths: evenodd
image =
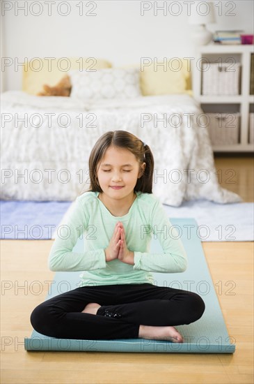
M1 239L54 239L71 204L72 201L0 200ZM253 202L219 204L191 200L180 207L164 205L164 209L170 219L195 219L201 242L254 241Z

